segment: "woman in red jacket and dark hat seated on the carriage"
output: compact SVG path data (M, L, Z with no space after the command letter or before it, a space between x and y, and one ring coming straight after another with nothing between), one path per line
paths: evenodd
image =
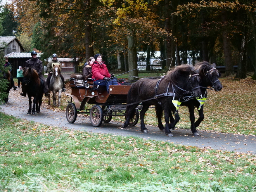
M94 85L106 86L107 92L109 92L109 85L118 85L117 78L113 79L113 75L109 74L100 54L96 54L94 59L95 62L92 65L92 78L95 79Z

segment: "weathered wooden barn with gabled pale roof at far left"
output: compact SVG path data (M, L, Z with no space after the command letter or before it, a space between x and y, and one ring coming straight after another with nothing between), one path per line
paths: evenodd
M3 51L3 55L25 51L15 36L0 36L0 50Z

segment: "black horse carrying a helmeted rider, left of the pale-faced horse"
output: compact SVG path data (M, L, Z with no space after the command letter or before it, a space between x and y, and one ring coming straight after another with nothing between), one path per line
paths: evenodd
M35 69L31 67L27 67L23 71L24 79L22 81L22 88L26 90L28 94L28 103L29 103L29 109L28 114L35 114L36 112L40 113L40 107L42 104L42 98L43 98L43 87L42 82L38 76L38 73ZM34 97L33 99L33 108L32 108L32 101L31 97Z

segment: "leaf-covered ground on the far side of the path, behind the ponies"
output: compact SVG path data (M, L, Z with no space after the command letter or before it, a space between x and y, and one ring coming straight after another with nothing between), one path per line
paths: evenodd
M220 92L208 90L208 98L204 104L204 121L197 130L208 130L222 133L256 135L256 81L251 78L236 81L234 78L220 78L223 89ZM67 92L71 88L67 83ZM62 94L61 107L48 106L48 98L43 97L43 106L54 111L65 111L70 97ZM51 99L52 103L52 99ZM92 105L87 106L88 109ZM194 110L197 119L197 110ZM180 122L178 128L190 129L189 111L185 106L179 108ZM78 115L87 116L87 115ZM124 122L124 117L113 117L112 121ZM163 120L164 122L164 120ZM140 123L140 121L138 121ZM147 125L157 126L155 109L151 108L145 115Z

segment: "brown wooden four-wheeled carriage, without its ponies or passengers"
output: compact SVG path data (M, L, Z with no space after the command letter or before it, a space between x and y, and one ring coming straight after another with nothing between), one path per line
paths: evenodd
M66 107L66 118L69 123L74 123L77 114L90 114L90 121L93 126L100 126L102 122L109 123L112 116L126 115L127 93L130 89L130 83L119 80L120 85L110 85L109 93L106 87L95 86L92 79L87 81L69 79L71 94L65 93L71 97ZM92 104L92 107L86 109L86 104ZM138 123L138 108L129 121L130 126Z

